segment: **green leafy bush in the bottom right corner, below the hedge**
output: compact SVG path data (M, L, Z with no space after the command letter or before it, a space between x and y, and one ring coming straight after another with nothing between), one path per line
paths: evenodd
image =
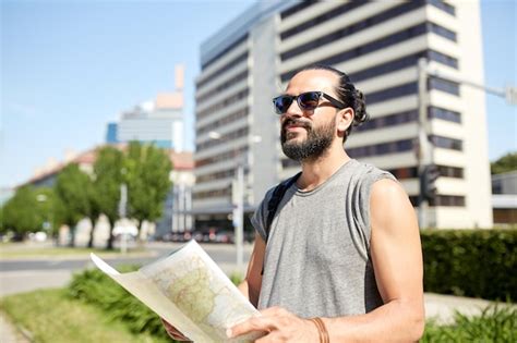
M517 310L509 306L490 306L477 317L456 313L452 326L429 321L421 342L517 342Z

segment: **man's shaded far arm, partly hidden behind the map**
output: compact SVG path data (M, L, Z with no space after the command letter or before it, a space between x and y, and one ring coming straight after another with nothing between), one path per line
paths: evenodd
M265 250L266 244L264 240L262 240L261 235L255 234L255 243L248 265L248 272L244 281L239 284L239 291L241 291L255 307L258 304L258 294L261 293L262 267Z

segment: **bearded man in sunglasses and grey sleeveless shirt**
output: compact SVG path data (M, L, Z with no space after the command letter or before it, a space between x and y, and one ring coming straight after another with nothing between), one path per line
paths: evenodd
M269 191L239 286L262 316L229 329L257 342L418 341L422 255L414 211L395 179L350 159L344 142L366 120L364 97L328 66L297 73L274 99L286 156L302 173L269 229ZM266 243L267 242L267 243Z

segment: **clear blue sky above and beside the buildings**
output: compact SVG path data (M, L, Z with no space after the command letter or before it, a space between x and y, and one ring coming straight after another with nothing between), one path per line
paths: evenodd
M1 1L0 186L49 158L104 142L121 110L173 90L185 65L187 147L193 149L200 45L253 1ZM517 85L512 0L483 1L485 82ZM517 150L517 107L486 96L490 159Z

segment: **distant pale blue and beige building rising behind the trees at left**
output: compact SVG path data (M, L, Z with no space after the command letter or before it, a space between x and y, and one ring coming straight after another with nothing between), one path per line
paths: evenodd
M123 111L117 123L108 123L106 142L109 144L140 140L176 151L183 150L183 68L176 68L176 91L160 93Z

